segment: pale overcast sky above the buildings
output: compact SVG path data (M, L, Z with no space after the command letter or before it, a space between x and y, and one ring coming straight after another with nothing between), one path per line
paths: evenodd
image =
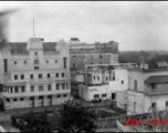
M9 41L116 41L119 51L168 50L167 1L0 1L9 19Z

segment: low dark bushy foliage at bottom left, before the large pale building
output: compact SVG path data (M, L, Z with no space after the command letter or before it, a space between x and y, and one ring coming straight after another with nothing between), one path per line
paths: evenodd
M15 125L21 132L51 132L46 113L39 115L33 113L25 114Z

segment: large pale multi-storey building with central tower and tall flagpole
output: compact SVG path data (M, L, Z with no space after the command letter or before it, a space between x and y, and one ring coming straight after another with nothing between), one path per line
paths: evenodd
M1 42L0 81L6 109L61 104L71 99L69 45L43 42Z

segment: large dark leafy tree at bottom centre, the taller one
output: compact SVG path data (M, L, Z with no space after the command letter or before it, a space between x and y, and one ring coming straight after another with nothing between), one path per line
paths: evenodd
M95 132L97 115L94 110L67 101L63 104L57 122L57 132Z

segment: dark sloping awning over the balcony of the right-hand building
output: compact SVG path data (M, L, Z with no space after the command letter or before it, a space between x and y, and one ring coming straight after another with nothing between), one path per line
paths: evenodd
M168 75L151 75L145 81L145 83L168 83Z

